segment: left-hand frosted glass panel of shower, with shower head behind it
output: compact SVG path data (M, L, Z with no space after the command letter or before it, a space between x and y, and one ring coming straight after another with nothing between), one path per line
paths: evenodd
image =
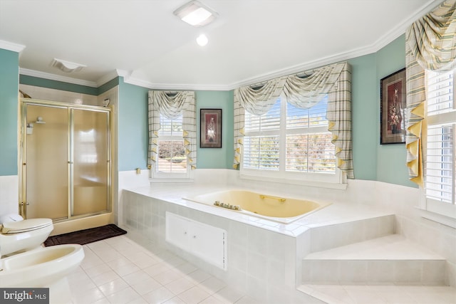
M68 109L26 107L26 218L68 217ZM39 117L39 118L38 118Z

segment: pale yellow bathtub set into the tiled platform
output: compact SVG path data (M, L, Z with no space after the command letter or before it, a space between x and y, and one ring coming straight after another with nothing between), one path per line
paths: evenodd
M250 192L247 190L224 190L192 197L184 197L188 201L195 201L207 205L230 206L232 211L257 216L280 223L291 223L301 217L317 211L330 203L317 203L304 199L291 199L281 196ZM236 210L239 206L241 210ZM214 206L224 208L223 206Z

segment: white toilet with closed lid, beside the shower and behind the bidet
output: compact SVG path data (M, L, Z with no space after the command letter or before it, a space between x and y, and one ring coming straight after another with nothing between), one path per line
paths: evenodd
M0 216L0 224L3 257L41 246L53 231L51 219L23 219L18 214Z

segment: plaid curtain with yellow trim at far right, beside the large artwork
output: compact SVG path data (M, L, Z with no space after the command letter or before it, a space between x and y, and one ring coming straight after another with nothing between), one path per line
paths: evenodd
M456 0L415 21L405 33L407 75L407 166L412 182L423 186L422 128L425 125L425 70L456 67Z

